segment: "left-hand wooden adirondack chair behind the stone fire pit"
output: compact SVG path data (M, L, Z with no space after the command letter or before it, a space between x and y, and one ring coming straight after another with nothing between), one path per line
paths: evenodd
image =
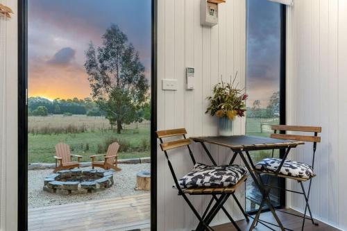
M72 162L71 156L77 157L77 162ZM64 143L59 143L56 145L56 156L54 158L56 159L56 169L54 170L56 173L56 171L62 169L79 168L82 155L71 155L70 146Z

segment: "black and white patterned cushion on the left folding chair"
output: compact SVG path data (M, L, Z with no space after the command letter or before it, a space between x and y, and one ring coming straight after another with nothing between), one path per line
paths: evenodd
M229 187L235 185L247 169L237 164L223 166L208 166L195 164L194 169L178 180L181 188L197 187Z

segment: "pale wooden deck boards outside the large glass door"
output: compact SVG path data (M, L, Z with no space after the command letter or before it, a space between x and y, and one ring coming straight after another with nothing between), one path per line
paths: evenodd
M29 209L28 230L149 230L150 194Z

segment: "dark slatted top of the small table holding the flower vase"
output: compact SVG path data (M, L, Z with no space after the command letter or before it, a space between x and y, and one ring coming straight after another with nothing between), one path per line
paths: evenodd
M226 146L232 149L270 149L281 147L295 147L304 142L287 139L273 139L268 137L257 137L252 135L232 135L230 137L190 137L194 142L204 142Z

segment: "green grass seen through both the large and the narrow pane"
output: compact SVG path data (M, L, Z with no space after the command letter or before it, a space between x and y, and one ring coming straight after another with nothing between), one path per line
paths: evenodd
M74 134L28 134L28 163L46 162L52 163L55 160L53 156L56 155L55 146L59 142L69 144L71 153L76 155L83 155L83 162L90 161L89 156L98 153L98 146L105 146L105 139L110 137L121 139L128 142L128 151L120 152L120 159L135 158L135 157L149 157L149 140L150 140L150 126L148 121L139 123L139 128L130 125L125 126L126 129L121 134L112 132L110 128L103 129L108 126L107 119L104 118L89 118L85 116L75 117L29 117L29 126L31 128L54 128L66 127L70 123L76 126L87 126L86 132ZM246 133L248 135L257 135L269 137L271 124L278 124L278 118L275 119L259 119L248 118L246 119ZM95 127L95 129L94 129ZM144 147L146 143L147 146ZM100 152L100 151L99 151ZM262 157L269 156L269 152L252 152L255 160Z

